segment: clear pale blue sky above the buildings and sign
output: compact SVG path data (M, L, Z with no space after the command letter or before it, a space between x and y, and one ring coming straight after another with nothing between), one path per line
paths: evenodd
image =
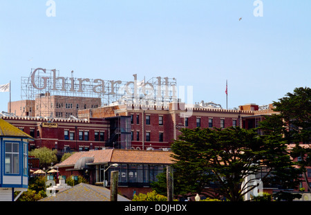
M0 84L31 68L62 77L132 81L175 77L193 86L194 102L228 108L270 104L300 86L310 87L311 1L267 1L255 17L254 0L0 1ZM241 21L238 19L242 17ZM7 111L9 93L0 93Z

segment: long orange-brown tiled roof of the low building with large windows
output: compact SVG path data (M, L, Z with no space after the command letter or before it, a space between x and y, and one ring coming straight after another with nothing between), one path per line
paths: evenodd
M117 163L139 163L139 164L163 164L171 165L171 151L144 151L126 149L104 149L97 151L82 151L73 153L72 156L58 164L58 167L74 166L76 162L84 157L93 157L93 164L117 162Z

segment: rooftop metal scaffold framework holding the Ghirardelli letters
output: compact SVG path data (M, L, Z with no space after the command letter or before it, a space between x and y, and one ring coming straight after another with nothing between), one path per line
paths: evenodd
M73 77L73 71L71 77L60 77L55 69L32 68L29 77L21 77L21 100L35 101L35 110L32 110L35 116L52 118L76 117L78 109L113 104L167 104L177 101L175 78L152 77L148 81L138 81L137 75L133 77L131 82L93 80ZM64 100L66 104L63 104ZM69 106L77 100L83 100L84 104ZM75 111L68 112L69 109Z

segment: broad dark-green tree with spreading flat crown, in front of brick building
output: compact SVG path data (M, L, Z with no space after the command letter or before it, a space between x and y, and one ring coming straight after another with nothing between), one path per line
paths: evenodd
M184 191L202 193L205 187L214 187L216 194L228 200L243 200L247 192L258 185L254 180L242 186L245 177L260 174L270 183L296 186L298 174L292 167L281 135L266 137L255 129L182 129L179 140L172 144L174 176ZM174 182L174 186L175 186ZM215 196L209 194L215 198Z

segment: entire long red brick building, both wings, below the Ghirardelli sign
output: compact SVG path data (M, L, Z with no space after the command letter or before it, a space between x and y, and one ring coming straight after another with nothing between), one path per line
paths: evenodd
M240 110L227 110L204 106L185 109L185 104L177 102L169 106L122 104L79 110L78 120L12 116L1 118L35 138L30 142L30 150L39 147L57 149L61 153L105 147L167 150L173 140L178 139L182 128L257 127L263 115L272 111L258 111L258 105L252 106L254 108L245 105L240 106Z

